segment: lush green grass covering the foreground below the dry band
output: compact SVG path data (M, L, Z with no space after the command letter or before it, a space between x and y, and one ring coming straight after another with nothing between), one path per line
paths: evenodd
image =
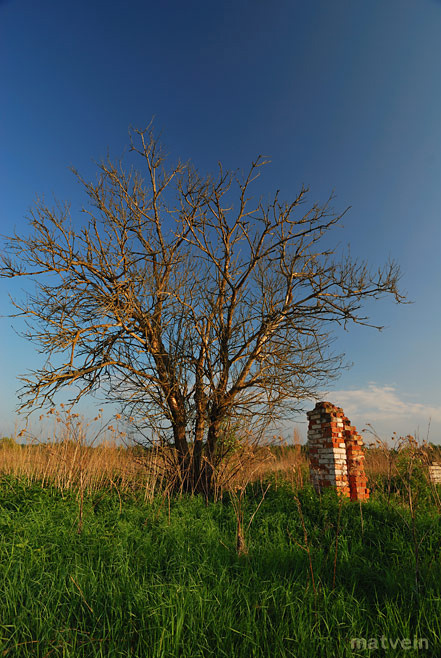
M86 496L78 532L75 492L1 477L0 655L440 656L436 510L426 504L413 527L394 501L360 511L309 488L298 497L300 511L288 487L271 487L238 557L228 496ZM250 489L245 521L260 500ZM429 649L351 649L381 636Z

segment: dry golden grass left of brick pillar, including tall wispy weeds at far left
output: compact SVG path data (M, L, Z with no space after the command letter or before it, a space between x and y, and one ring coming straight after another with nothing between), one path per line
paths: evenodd
M121 493L143 492L145 499L170 490L175 485L174 451L128 445L118 420L119 416L114 425L104 424L100 410L86 423L63 406L52 409L40 416L42 427L52 422L46 434L41 428L39 435L23 430L15 439L0 441L0 473L60 489L94 492L116 487ZM26 443L18 443L23 439ZM301 486L306 465L300 445L288 446L274 437L271 445L258 446L252 437L243 436L216 473L215 497L249 482L263 481L269 473L276 481L284 479Z

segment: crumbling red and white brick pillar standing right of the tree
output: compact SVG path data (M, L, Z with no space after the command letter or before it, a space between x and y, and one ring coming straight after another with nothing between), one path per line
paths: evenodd
M311 481L317 491L335 487L351 500L367 500L363 440L344 415L330 402L318 402L307 413Z

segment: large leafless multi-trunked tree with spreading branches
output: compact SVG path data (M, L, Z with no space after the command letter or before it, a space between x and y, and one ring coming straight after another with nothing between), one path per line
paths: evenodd
M306 189L253 203L261 158L243 177L167 169L149 128L130 152L141 170L108 159L95 182L75 172L82 227L38 201L31 233L6 239L0 275L35 282L14 315L48 357L22 377L20 408L66 386L72 403L104 391L174 447L186 489L208 491L232 428L264 428L317 395L342 365L333 328L369 324L367 298L402 301L399 270L338 256L327 235L341 215L329 202L305 212Z

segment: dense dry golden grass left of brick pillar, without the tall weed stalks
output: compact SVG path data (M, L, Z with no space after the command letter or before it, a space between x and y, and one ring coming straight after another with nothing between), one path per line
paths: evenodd
M277 480L301 485L302 464L307 460L289 448L275 452L268 446L251 448L246 443L232 454L216 477L216 497L223 491L248 482L263 481L273 473ZM3 441L0 448L0 472L26 478L29 482L52 484L60 489L81 486L88 491L118 486L120 491L144 490L150 498L167 488L173 470L171 450L145 452L117 445L113 441L95 447L72 440L20 445Z

